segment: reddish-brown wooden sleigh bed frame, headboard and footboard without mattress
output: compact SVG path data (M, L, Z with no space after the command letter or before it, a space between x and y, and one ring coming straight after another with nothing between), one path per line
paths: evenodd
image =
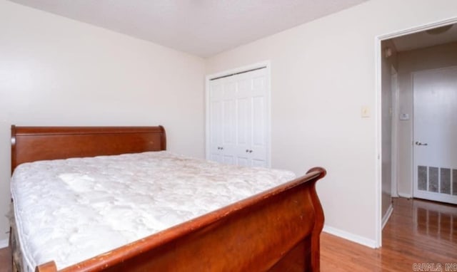
M11 127L11 172L44 159L166 150L164 127ZM281 186L61 271L319 271L323 211L310 169ZM53 261L36 271L57 271Z

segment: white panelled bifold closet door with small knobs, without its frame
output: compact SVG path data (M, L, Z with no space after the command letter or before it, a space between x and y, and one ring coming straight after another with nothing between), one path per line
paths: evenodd
M208 159L268 167L266 68L209 82Z

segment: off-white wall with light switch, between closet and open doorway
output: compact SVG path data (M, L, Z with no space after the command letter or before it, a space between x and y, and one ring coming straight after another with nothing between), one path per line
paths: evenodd
M456 10L454 0L367 1L209 58L206 73L271 60L272 166L326 167L318 183L326 229L376 246L375 37ZM372 117L361 118L361 105Z

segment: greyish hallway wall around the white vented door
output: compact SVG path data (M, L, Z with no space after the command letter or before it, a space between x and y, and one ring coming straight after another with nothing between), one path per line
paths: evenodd
M399 113L409 120L398 121L398 193L411 197L413 182L413 86L412 73L457 66L457 42L398 53ZM398 118L398 117L397 117Z

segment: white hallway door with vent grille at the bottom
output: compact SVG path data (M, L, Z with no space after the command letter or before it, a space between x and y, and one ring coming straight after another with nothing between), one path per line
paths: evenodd
M457 68L413 73L413 196L457 204Z

